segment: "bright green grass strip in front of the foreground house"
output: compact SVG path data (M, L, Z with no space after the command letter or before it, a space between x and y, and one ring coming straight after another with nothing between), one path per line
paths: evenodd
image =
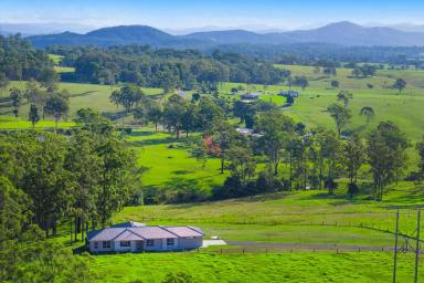
M414 259L401 254L396 282L413 282ZM144 253L89 258L97 282L162 282L184 272L193 282L391 282L391 253ZM424 269L420 266L420 272Z

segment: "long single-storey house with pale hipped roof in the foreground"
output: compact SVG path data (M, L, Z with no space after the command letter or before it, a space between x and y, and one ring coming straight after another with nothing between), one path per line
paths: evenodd
M92 253L190 250L202 247L203 237L195 227L126 222L89 232L87 248Z

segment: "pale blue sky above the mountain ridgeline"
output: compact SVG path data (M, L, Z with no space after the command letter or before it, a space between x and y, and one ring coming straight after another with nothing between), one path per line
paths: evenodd
M349 20L361 24L424 23L423 0L0 0L1 22L95 27L245 27L294 29Z

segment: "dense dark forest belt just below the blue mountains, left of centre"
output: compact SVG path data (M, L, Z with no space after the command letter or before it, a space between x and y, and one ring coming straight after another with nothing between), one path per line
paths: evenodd
M115 84L134 83L140 86L215 87L221 82L277 84L290 73L272 63L250 56L214 51L204 55L194 50L152 49L149 46L63 48L52 46L51 53L64 55L63 64L75 67L65 81Z

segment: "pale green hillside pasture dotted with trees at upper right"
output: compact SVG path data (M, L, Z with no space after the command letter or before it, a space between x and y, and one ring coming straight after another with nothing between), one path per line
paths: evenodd
M286 108L287 115L298 122L303 122L308 127L325 126L335 128L333 120L326 113L326 108L336 101L337 94L341 90L348 90L353 94L351 101L351 109L353 113L352 123L348 126L348 130L357 130L359 133L368 133L381 120L393 120L413 140L418 140L424 135L424 115L421 109L424 107L424 90L422 80L424 80L423 71L379 71L377 76L368 78L350 77L351 70L338 69L337 76L325 76L315 74L314 67L310 66L280 66L288 69L294 75L306 75L309 78L310 86L300 92L300 97L296 99L293 107ZM403 77L407 81L409 86L401 95L398 91L385 88L383 85L390 86L394 78ZM339 88L329 87L329 82L337 80L340 82ZM373 84L374 88L368 88L367 84ZM229 93L234 86L245 84L223 84L221 87L223 93ZM275 102L279 105L285 103L285 98L277 95L268 95L287 90L284 85L269 85L266 88L262 85L251 85L252 91L263 92L263 99ZM372 106L377 113L374 120L367 125L365 119L359 115L363 106Z

